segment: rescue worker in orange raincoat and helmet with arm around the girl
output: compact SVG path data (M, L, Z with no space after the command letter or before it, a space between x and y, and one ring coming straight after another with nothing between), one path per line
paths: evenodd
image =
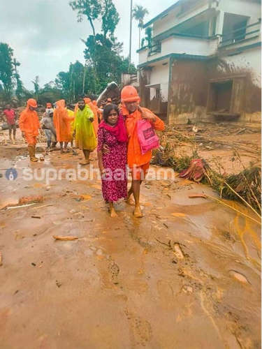
M137 218L143 217L140 209L140 184L143 179L145 179L152 158L152 150L147 151L144 155L141 154L137 122L140 119L146 119L150 121L150 124L155 130L163 131L165 128L163 121L147 108L140 107L139 102L140 97L135 87L126 86L122 89L122 114L126 118L126 130L129 137L127 163L132 173L132 184L128 193L127 202L130 202L130 197L133 194L135 199L135 210L133 214Z

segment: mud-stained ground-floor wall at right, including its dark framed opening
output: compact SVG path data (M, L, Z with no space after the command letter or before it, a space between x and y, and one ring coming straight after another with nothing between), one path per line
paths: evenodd
M256 49L205 61L174 60L168 122L261 122L260 56Z

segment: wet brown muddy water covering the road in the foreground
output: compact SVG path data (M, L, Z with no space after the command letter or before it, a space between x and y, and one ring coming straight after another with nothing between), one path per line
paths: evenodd
M22 179L78 157L8 157L18 177L0 178L0 206L45 200L0 211L0 348L260 348L259 225L177 178L145 181L144 218L124 202L109 218L96 179Z

